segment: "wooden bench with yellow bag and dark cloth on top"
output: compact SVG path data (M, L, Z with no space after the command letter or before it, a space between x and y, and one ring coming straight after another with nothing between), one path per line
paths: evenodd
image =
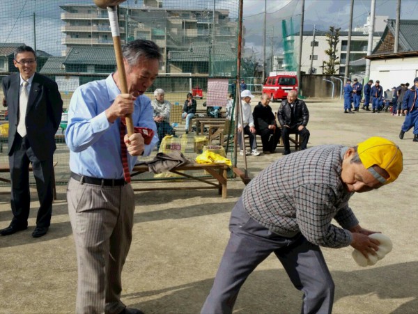
M183 189L218 189L218 193L222 194L222 198L226 198L226 183L228 182L228 166L225 164L185 164L183 166L178 166L176 168L171 169L171 173L175 173L176 175L180 175L180 178L169 178L169 180L183 180L185 178L190 180L196 180L201 183L204 183L205 185L189 185L187 187L176 187L172 185L173 182L169 182L169 184L166 187L149 187L147 181L146 186L140 187L140 188L134 188L134 191L157 191L157 190L183 190ZM146 164L141 164L134 166L134 169L132 170L131 176L139 175L144 172L148 172L148 166ZM199 171L199 174L196 175L190 175L187 173L183 173L180 171ZM208 178L203 176L203 171L207 171L212 178L215 179L217 182L212 182L208 180ZM156 179L153 179L153 181ZM160 180L167 180L167 178L160 179ZM134 180L135 181L140 180Z

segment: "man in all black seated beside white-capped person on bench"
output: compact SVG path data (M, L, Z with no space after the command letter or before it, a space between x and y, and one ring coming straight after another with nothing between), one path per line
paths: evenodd
M270 154L270 152L276 150L281 134L269 103L270 97L267 94L263 94L261 95L261 102L258 102L253 111L254 125L257 134L261 136L263 153L265 154Z

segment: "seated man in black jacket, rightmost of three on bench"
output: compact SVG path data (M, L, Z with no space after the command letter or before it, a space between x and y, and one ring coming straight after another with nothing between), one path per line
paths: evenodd
M280 104L277 118L281 125L281 139L284 145L283 155L291 153L289 134L300 134L302 138L300 149L306 150L311 135L307 129L309 111L307 104L303 100L297 99L297 91L289 91L287 100L283 100Z

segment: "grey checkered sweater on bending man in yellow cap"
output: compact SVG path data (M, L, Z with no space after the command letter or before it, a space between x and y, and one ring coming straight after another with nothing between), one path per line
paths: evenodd
M242 201L249 216L274 233L301 232L311 243L339 248L358 221L341 183L343 146L317 146L278 159L249 182ZM334 226L335 219L343 228Z

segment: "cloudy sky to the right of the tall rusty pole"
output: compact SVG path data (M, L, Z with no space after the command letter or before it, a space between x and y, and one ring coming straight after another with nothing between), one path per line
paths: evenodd
M305 0L304 31L327 31L330 26L347 31L350 21L350 0ZM397 0L376 0L376 15L396 18ZM267 10L265 10L265 4ZM255 57L263 54L264 12L266 18L266 54L270 56L273 42L274 54L281 51L281 20L293 18L293 29L300 31L302 0L244 0L246 51L254 50ZM366 24L371 11L371 0L355 0L353 28ZM401 19L418 19L418 0L401 0ZM418 33L418 30L417 30Z

